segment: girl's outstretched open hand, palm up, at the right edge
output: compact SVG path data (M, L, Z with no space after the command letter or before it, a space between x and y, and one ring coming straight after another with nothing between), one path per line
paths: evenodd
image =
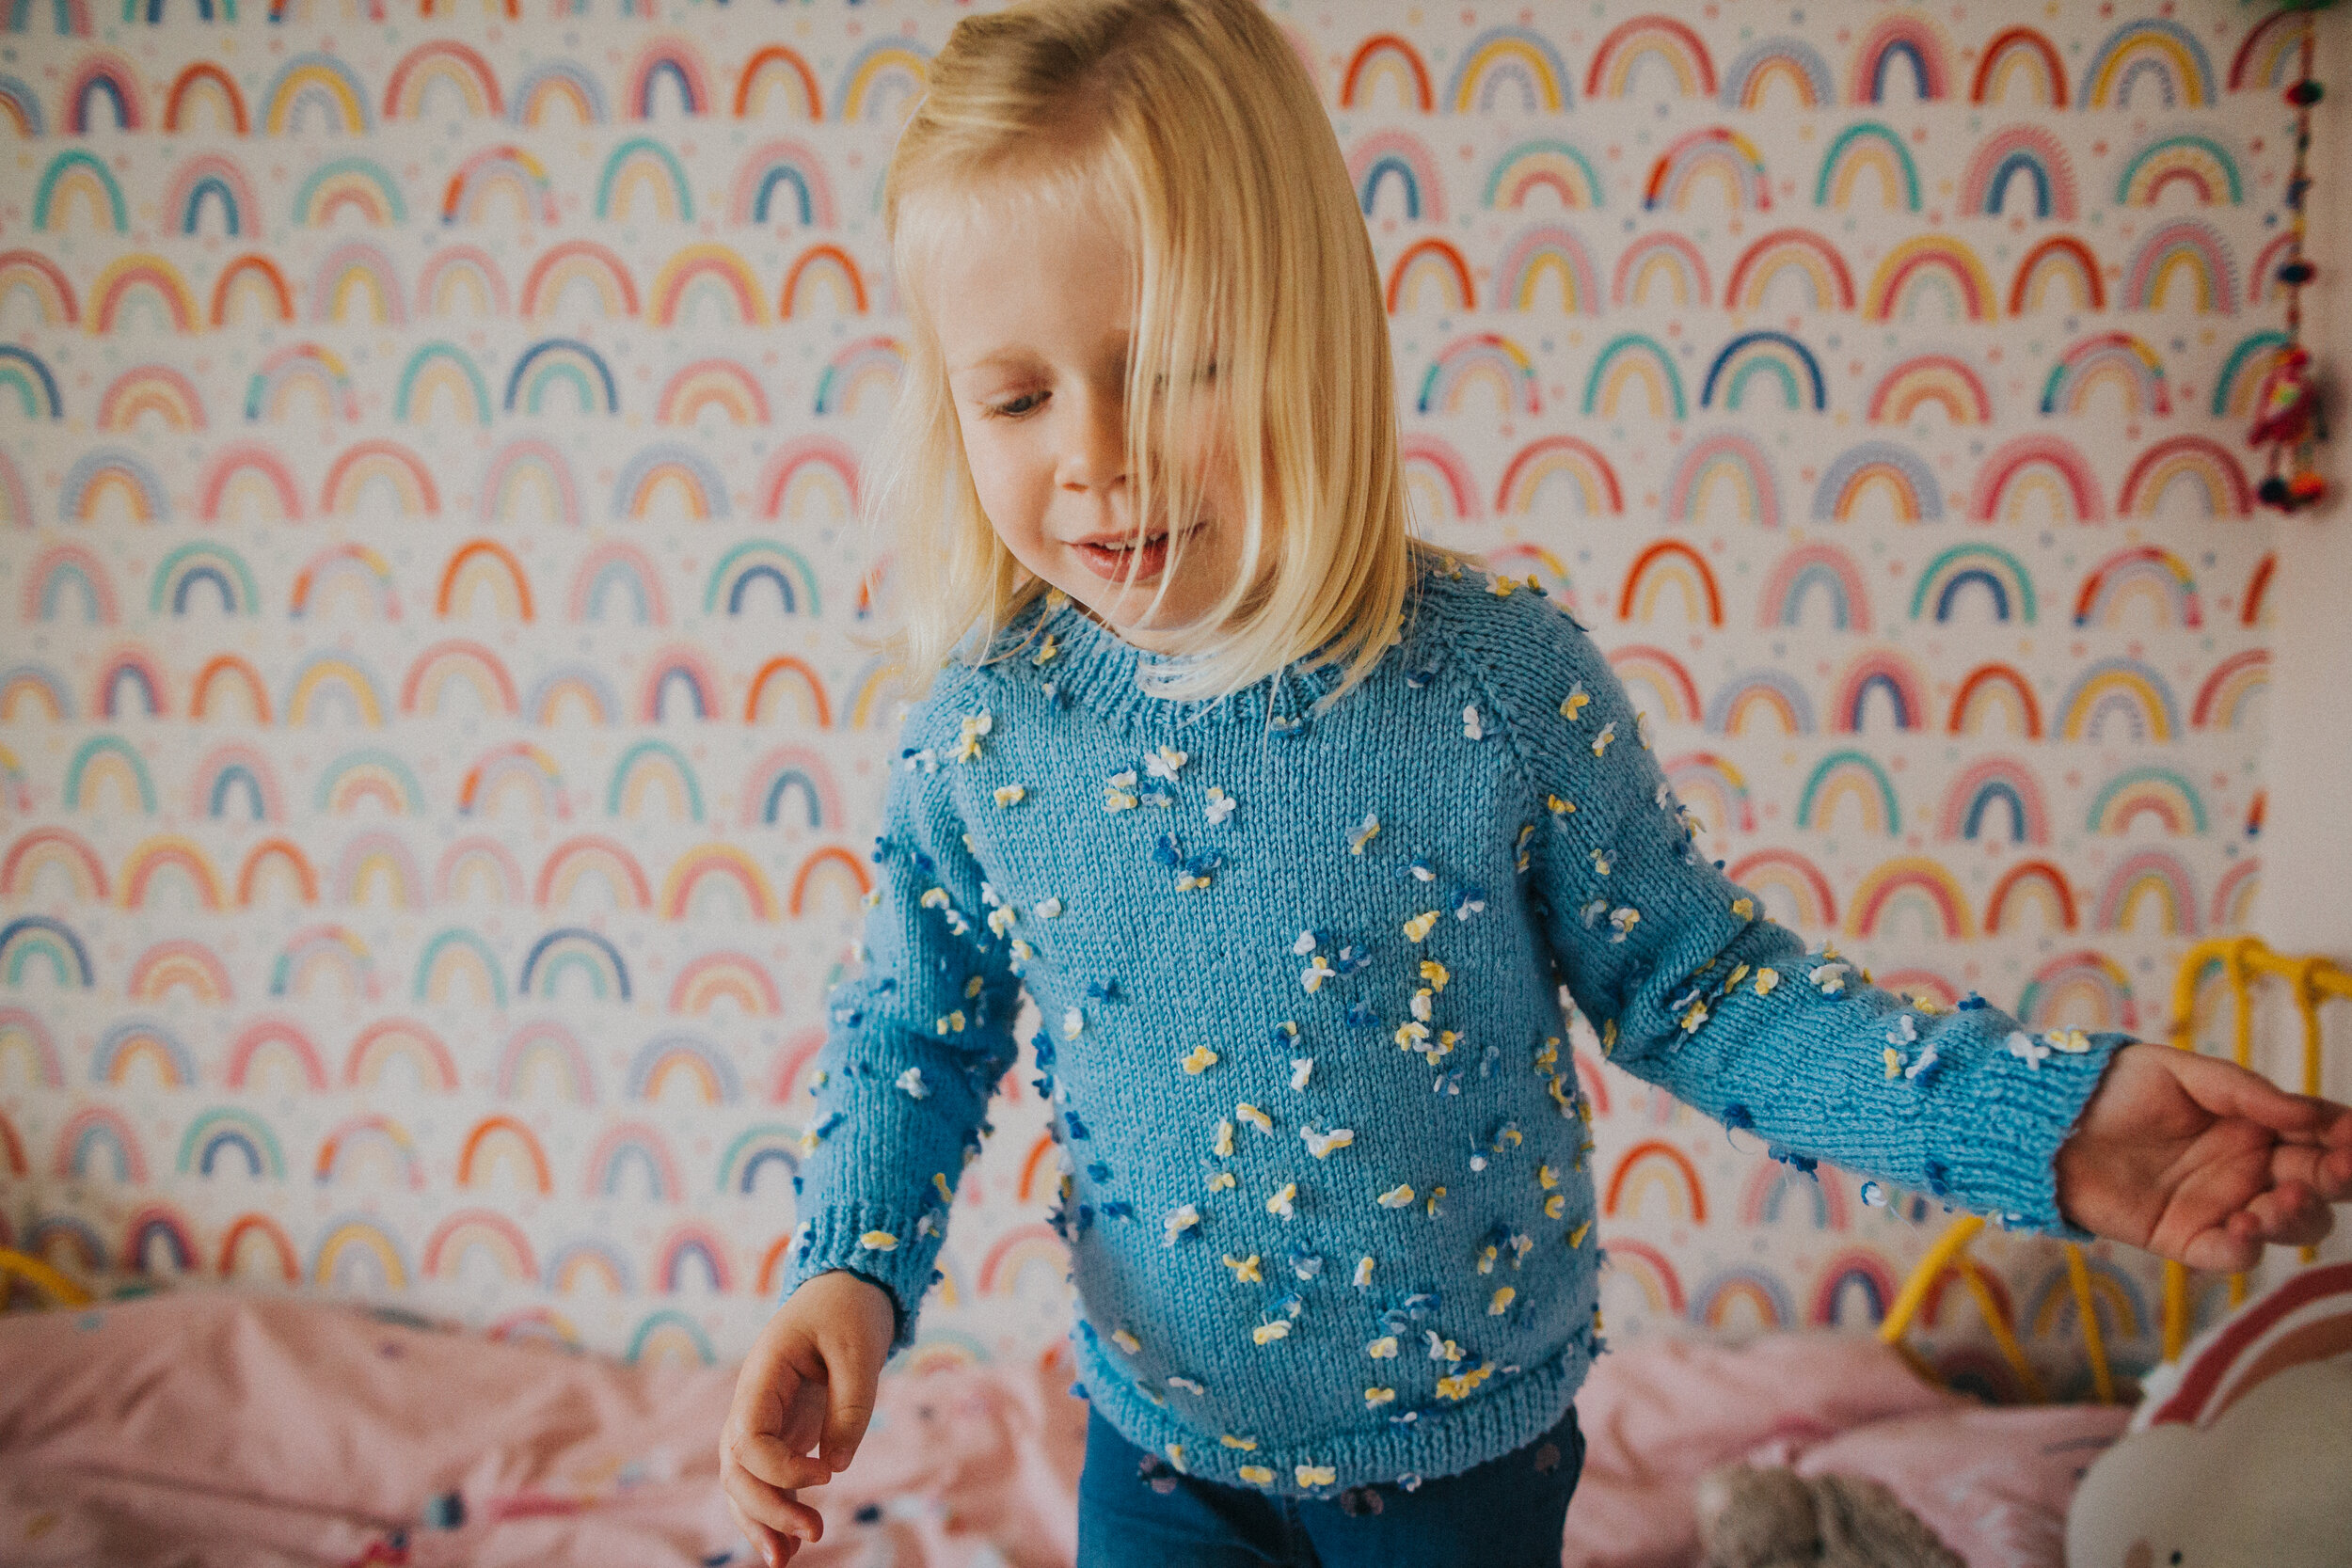
M2129 1044L2058 1145L2058 1211L2194 1269L2246 1269L2328 1234L2352 1197L2352 1105L2234 1063Z

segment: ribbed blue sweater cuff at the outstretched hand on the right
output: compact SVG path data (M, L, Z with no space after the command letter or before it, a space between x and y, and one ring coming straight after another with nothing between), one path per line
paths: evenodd
M2091 1232L2058 1208L2058 1145L2074 1131L2107 1063L2131 1044L2131 1034L2091 1034L2086 1051L2049 1048L2046 1041L2058 1034L2025 1034L2025 1056L1985 1063L1990 1072L1973 1079L1976 1103L1966 1121L1943 1117L1926 1126L1929 1175L1940 1166L1952 1192L2002 1215L2009 1229L2091 1241ZM2006 1056L2009 1041L1994 1041L1992 1051ZM2027 1058L2034 1058L2032 1067Z

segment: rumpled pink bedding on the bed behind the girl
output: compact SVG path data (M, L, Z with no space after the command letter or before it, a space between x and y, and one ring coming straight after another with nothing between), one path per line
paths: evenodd
M0 1319L0 1561L727 1563L734 1375L628 1368L362 1309L181 1291ZM811 1568L1049 1568L1073 1554L1068 1368L884 1380L858 1465L811 1500ZM1564 1563L1693 1563L1691 1490L1750 1458L1886 1481L1978 1568L2058 1563L2124 1410L1987 1410L1875 1340L1646 1340L1578 1399Z

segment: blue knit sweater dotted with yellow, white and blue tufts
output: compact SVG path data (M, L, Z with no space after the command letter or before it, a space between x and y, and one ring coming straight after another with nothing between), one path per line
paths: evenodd
M910 1340L1023 987L1080 1378L1235 1486L1411 1483L1559 1420L1602 1345L1562 985L1621 1067L1783 1157L2082 1234L2051 1166L2124 1037L1809 954L1541 592L1425 571L1322 712L1327 672L1150 696L1152 656L1058 597L993 651L906 719L786 1288L863 1274Z

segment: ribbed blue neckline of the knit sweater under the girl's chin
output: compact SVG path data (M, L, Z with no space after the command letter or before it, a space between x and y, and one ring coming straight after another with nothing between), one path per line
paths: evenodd
M1416 583L1416 597L1428 592L1428 574ZM1037 663L1044 639L1054 639L1054 658ZM1000 670L1018 670L1023 677L1051 682L1056 698L1077 703L1103 719L1141 726L1176 729L1209 724L1216 729L1263 729L1268 719L1277 726L1298 726L1298 733L1315 724L1310 712L1317 701L1336 691L1343 670L1338 665L1305 668L1289 663L1282 670L1211 698L1164 698L1143 686L1148 670L1171 668L1178 661L1148 654L1101 625L1077 599L1061 592L1040 595L1033 607L1004 628L995 642ZM1390 649L1395 656L1395 649Z

